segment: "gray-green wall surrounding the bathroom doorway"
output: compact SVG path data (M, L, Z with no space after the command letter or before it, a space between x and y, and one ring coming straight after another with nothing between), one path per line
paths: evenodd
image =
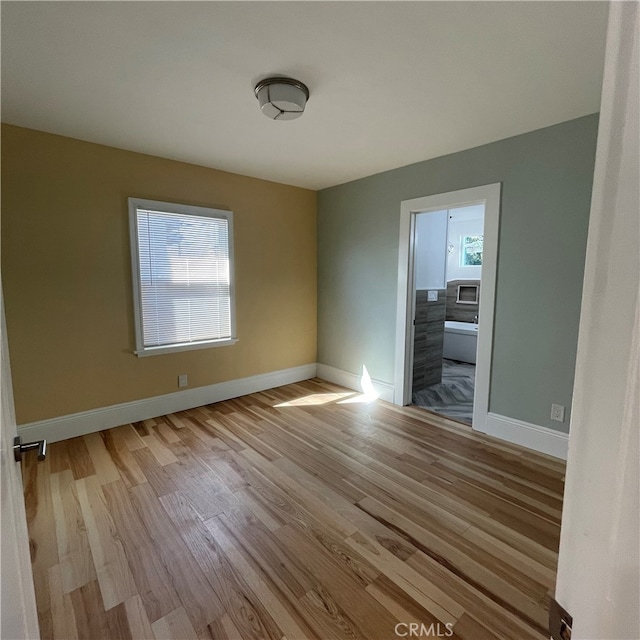
M318 362L393 384L400 202L501 182L489 411L568 431L597 127L590 115L320 191Z

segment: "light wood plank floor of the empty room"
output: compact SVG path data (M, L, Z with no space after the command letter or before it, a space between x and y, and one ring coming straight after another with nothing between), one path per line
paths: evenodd
M564 465L355 396L313 380L27 456L42 637L548 638Z

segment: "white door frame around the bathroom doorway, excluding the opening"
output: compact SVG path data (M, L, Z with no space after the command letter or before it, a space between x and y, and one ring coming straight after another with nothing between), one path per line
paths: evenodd
M470 189L460 189L459 191L449 191L448 193L403 200L400 206L396 364L393 397L395 404L404 406L411 402L416 215L429 211L484 204L482 287L480 288L478 354L473 402L473 428L482 432L486 431L487 413L489 412L493 313L498 262L498 229L500 225L500 188L500 183L496 182Z

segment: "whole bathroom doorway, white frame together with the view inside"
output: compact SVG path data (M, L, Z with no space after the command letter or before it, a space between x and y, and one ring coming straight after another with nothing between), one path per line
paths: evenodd
M401 205L394 401L478 431L489 408L499 206L499 183Z

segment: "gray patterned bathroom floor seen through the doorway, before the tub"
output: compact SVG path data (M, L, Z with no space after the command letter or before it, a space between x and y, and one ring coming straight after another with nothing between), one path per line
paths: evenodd
M476 367L456 360L442 361L442 382L413 394L413 404L466 424L473 417Z

